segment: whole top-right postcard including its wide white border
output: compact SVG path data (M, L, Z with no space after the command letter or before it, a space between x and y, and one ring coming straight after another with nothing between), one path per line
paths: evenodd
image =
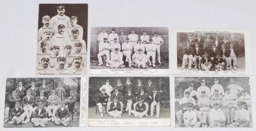
M250 75L248 30L174 29L173 74Z

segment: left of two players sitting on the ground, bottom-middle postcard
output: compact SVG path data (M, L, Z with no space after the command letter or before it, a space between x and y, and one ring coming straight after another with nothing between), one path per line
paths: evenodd
M117 101L117 97L114 97L114 101L110 104L109 115L111 117L122 117L121 104Z

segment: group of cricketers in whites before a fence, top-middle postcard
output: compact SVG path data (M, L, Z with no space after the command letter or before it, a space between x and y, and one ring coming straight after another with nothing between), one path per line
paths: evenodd
M103 64L102 56L106 57L106 67L111 68L132 67L132 65L138 68L146 68L148 65L156 67L156 59L159 64L162 63L160 46L163 45L164 40L157 32L150 38L145 30L140 37L135 34L134 29L129 35L125 35L123 30L120 34L115 31L116 29L113 28L108 34L103 28L99 33L98 65Z

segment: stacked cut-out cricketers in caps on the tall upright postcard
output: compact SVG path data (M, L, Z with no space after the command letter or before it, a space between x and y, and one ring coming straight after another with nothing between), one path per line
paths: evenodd
M77 16L65 15L65 7L57 7L57 15L42 17L38 30L37 72L39 75L83 75L87 47L83 28Z

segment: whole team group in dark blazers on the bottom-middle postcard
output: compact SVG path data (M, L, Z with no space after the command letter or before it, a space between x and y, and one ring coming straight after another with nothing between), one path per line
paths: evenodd
M103 117L102 105L103 103L106 103L106 113L111 117L122 117L123 111L128 112L129 116L133 113L135 117L139 118L148 116L147 113L150 112L150 116L153 117L154 108L156 107L155 117L158 118L160 115L161 95L156 90L155 86L152 85L152 81L148 80L149 85L147 86L147 89L144 89L141 80L138 80L138 84L135 86L134 91L131 88L132 83L130 82L130 78L127 78L125 84L128 84L127 87L130 87L126 89L126 92L120 92L118 86L115 86L114 91L111 94L112 91L108 88L111 86L109 85L109 80L106 80L106 84L100 88L101 92L97 95L97 106L99 107L101 117Z

